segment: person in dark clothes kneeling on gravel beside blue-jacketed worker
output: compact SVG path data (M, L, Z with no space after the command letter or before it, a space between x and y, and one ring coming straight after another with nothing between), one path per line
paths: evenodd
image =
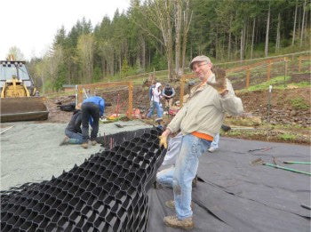
M74 114L71 116L70 122L68 123L65 129L65 138L60 142L61 145L67 144L81 144L82 143L82 130L81 130L81 121L82 121L81 110L75 110Z

